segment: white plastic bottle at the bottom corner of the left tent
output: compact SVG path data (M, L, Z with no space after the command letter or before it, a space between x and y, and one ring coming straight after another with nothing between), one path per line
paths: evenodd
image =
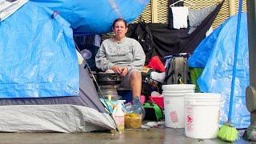
M118 100L118 104L113 110L114 121L117 125L118 130L125 129L125 113L122 110L123 102L126 102L126 101Z

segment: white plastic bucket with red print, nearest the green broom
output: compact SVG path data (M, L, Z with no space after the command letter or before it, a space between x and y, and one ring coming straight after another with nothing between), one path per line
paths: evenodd
M185 134L190 138L217 138L220 94L186 94Z

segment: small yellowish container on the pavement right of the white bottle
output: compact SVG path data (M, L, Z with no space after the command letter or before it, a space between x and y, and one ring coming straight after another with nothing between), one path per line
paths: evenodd
M126 114L125 115L126 129L138 129L142 127L142 114Z

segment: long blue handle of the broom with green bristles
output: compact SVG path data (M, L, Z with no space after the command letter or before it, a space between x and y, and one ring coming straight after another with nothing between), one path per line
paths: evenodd
M237 63L238 63L238 41L240 35L240 23L241 23L241 13L242 13L242 0L239 0L239 8L238 8L238 26L237 26L237 34L235 38L235 46L234 46L234 65L233 65L233 74L231 81L231 92L230 92L230 108L229 108L229 116L228 121L231 121L231 115L233 110L233 100L234 100L234 83L235 76L237 74Z

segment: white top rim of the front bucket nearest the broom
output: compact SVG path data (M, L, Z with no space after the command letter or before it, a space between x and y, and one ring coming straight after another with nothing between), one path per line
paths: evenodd
M217 93L190 93L186 94L185 99L220 99L221 94Z

